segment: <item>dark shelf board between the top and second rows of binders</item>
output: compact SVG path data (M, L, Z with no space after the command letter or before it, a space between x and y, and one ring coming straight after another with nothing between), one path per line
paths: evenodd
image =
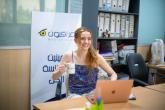
M104 9L99 9L99 12L113 13L113 14L123 14L123 15L139 15L138 13L129 13L129 12L122 12L122 11L110 11L110 10L104 10Z

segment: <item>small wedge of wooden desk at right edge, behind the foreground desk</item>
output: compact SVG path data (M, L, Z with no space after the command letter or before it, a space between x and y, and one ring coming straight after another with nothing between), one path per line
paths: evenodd
M153 90L156 90L156 91L159 91L159 92L162 92L162 93L165 93L165 83L147 86L147 88L153 89Z

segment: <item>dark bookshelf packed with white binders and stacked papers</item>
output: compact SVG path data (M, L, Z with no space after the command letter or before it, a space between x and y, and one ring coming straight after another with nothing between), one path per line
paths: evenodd
M125 65L126 54L137 51L140 0L98 0L96 48ZM111 54L111 53L112 54Z

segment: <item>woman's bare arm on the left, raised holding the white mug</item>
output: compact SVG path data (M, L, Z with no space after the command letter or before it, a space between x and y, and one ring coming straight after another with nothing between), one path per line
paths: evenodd
M53 72L53 80L57 80L64 72L66 68L66 63L70 61L70 54L64 54L57 69Z

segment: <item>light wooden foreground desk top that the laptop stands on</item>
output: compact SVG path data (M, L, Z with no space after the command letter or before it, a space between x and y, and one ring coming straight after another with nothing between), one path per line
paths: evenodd
M136 100L127 103L104 104L104 110L164 110L165 94L143 87L135 87L132 92ZM38 110L84 110L87 99L85 97L76 99L63 99L47 103L35 104Z

